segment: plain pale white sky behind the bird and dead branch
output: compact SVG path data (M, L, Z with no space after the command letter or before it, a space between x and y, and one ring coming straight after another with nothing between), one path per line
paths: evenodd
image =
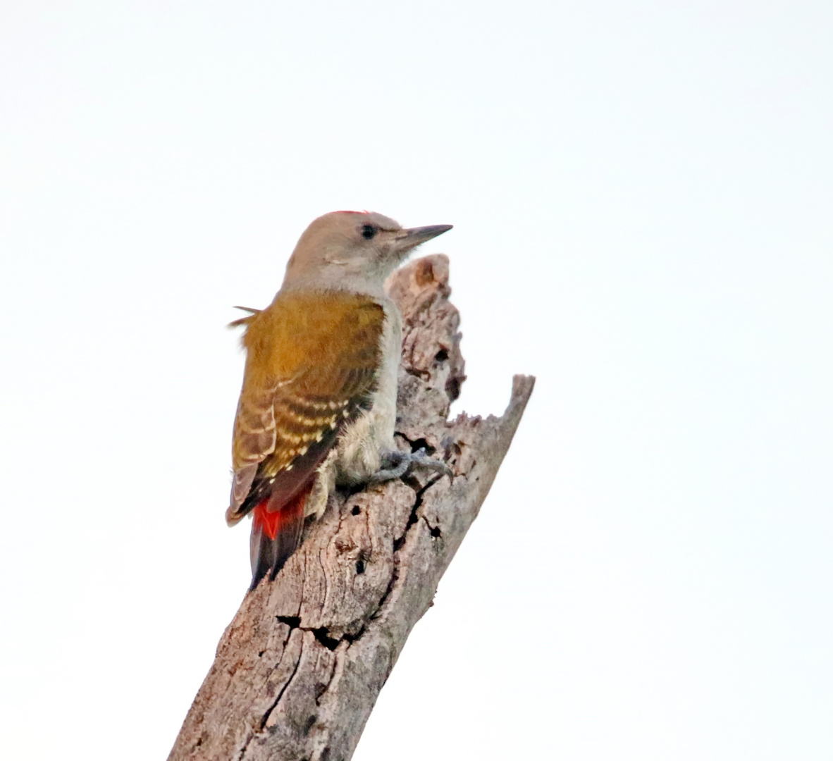
M453 223L538 383L358 746L833 756L826 2L3 2L0 757L162 759L249 578L264 306L333 209Z

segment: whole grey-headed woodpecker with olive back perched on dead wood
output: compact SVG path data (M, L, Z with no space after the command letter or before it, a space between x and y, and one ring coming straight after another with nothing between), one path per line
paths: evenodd
M246 366L226 521L252 514L250 589L275 578L337 483L395 478L412 464L448 472L394 445L402 316L384 283L416 246L450 229L332 211L298 240L272 303L239 307L250 314L231 324L245 326Z

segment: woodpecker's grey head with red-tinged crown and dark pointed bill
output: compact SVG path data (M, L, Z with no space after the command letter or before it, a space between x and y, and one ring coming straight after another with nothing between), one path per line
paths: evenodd
M307 227L287 263L284 288L381 293L387 276L420 243L451 225L402 226L374 211L331 211Z

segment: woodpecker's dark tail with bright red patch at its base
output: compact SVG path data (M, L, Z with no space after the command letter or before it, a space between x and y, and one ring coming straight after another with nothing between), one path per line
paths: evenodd
M302 490L277 510L270 510L271 499L263 500L252 510L252 537L249 541L252 560L250 590L267 574L270 579L274 579L289 556L301 544L304 506L309 493L309 488Z

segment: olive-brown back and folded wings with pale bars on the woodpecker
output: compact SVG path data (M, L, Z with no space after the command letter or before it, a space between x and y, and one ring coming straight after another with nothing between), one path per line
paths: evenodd
M342 428L369 409L385 313L369 296L295 291L244 320L230 524L268 497L270 510L291 500Z

